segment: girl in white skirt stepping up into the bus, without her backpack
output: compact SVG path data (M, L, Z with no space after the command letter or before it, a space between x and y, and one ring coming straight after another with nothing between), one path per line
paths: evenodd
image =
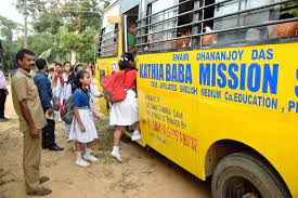
M139 126L139 106L137 98L137 70L133 67L134 57L130 53L121 55L119 61L120 70L126 70L124 79L127 96L125 101L114 103L111 109L109 124L115 126L114 131L114 147L111 155L118 161L121 161L119 153L119 142L126 126L134 126L132 141L140 141Z

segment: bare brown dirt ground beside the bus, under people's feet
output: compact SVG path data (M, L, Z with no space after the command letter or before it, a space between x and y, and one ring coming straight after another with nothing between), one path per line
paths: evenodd
M0 123L0 198L23 198L25 185L22 170L23 135L13 110L11 95L7 102L9 122ZM124 162L109 156L112 129L107 121L96 123L100 138L94 155L100 162L89 168L74 164L74 148L66 143L61 123L56 127L62 153L42 151L41 172L53 193L49 198L207 198L210 182L202 182L154 150L137 143L121 143Z

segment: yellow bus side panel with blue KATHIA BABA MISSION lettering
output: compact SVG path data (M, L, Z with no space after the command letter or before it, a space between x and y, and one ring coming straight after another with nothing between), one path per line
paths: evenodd
M267 158L297 196L297 49L281 43L139 55L143 141L200 179L213 143L241 142Z

